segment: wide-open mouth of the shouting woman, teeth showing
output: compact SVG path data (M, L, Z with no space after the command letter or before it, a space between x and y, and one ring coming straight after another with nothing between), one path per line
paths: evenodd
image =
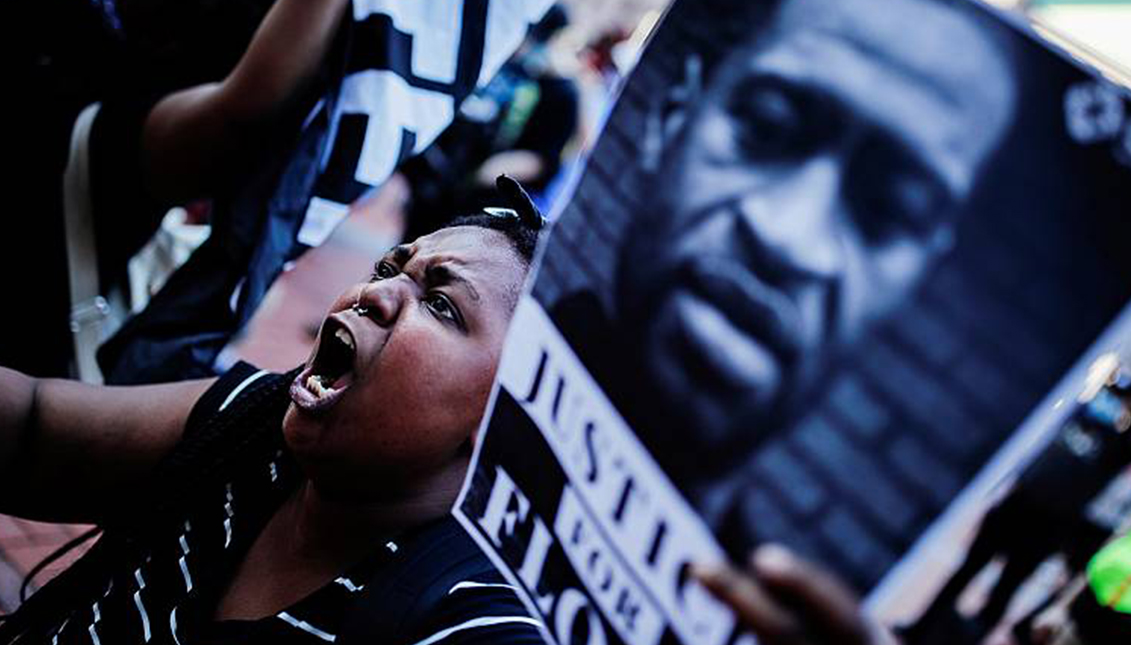
M357 343L349 329L327 318L314 360L291 384L291 399L305 412L325 412L353 384L356 355Z

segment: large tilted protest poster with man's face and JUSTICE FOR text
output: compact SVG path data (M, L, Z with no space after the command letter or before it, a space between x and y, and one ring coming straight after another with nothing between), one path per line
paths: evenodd
M762 542L909 618L883 603L941 586L924 534L1131 338L1128 105L973 1L677 0L518 306L457 517L558 642L743 638L687 565Z

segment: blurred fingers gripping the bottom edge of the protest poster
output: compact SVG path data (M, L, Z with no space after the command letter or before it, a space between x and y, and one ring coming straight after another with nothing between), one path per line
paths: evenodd
M784 547L758 548L745 569L697 567L692 575L728 604L762 645L898 644L832 574Z

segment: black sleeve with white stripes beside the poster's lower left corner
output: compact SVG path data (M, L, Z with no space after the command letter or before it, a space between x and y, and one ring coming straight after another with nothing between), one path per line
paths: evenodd
M542 645L542 622L499 576L454 584L407 645Z

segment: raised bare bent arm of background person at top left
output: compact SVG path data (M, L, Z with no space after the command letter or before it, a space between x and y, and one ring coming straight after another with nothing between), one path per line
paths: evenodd
M254 158L271 126L317 77L348 6L276 0L224 80L162 98L143 134L147 190L170 203L205 197Z

